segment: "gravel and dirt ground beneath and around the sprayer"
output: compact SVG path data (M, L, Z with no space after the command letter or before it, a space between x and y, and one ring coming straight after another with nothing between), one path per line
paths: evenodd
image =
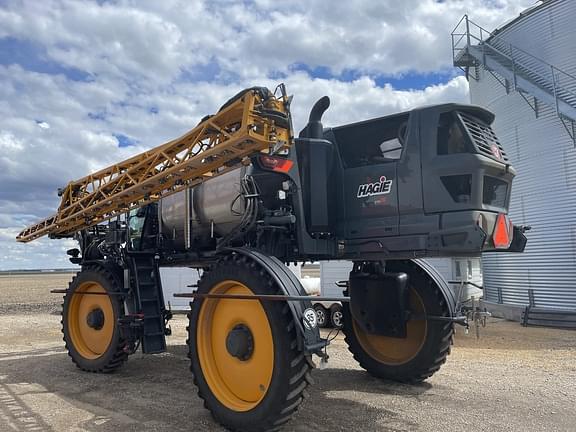
M188 370L184 316L167 353L131 357L112 375L77 370L63 350L60 295L70 275L0 277L0 431L219 431ZM576 332L492 320L477 341L459 328L429 382L371 378L338 337L329 368L287 431L574 431Z

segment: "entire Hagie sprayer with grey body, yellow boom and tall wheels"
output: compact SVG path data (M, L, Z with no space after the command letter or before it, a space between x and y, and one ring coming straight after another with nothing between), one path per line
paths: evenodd
M279 429L327 360L310 297L285 265L349 260L349 350L370 374L418 383L465 317L424 257L521 252L507 216L515 171L476 106L444 104L324 128L330 100L294 137L283 85L246 89L182 137L59 191L57 213L17 240L73 237L81 270L62 331L82 370L166 350L159 267L202 276L188 348L198 394L230 430Z

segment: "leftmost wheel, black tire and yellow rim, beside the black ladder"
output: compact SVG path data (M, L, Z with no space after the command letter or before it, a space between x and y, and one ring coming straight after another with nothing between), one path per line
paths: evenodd
M87 372L112 372L128 359L118 319L124 315L118 280L99 266L79 272L62 304L62 333L68 355Z

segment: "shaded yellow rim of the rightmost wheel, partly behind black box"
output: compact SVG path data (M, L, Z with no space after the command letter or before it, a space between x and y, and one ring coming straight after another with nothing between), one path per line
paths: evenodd
M410 291L410 308L415 315L426 312L420 295ZM393 338L365 333L353 321L352 327L358 342L372 358L387 365L400 365L412 360L426 341L427 323L425 319L410 320L406 323L406 338Z

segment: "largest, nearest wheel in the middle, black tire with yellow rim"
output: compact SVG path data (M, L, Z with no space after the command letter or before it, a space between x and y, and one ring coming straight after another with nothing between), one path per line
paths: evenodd
M281 294L264 270L237 254L205 271L198 292ZM279 429L298 410L312 382L288 305L196 299L190 306L191 370L205 407L233 431Z

